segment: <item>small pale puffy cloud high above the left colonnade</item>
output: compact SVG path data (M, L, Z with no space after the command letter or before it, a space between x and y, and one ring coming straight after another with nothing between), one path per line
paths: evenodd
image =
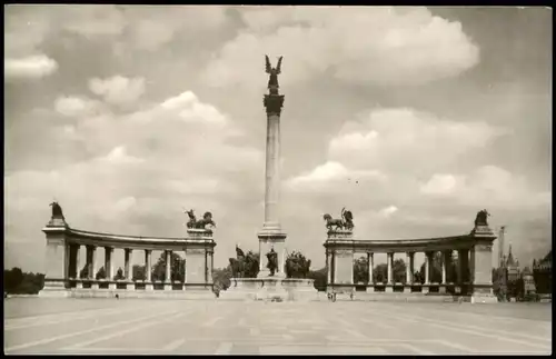
M89 80L89 89L112 104L127 104L137 101L145 92L143 78L115 76L108 79Z

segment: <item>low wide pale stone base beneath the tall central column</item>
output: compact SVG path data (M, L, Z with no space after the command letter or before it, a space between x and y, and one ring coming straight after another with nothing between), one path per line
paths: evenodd
M318 300L312 279L231 278L230 288L220 291L220 300L311 301Z

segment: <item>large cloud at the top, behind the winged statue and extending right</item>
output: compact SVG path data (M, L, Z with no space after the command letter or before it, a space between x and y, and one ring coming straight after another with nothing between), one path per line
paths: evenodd
M247 28L207 68L214 86L251 86L264 53L285 57L285 84L325 71L349 83L419 84L458 76L479 59L459 22L425 8L261 8L241 17Z

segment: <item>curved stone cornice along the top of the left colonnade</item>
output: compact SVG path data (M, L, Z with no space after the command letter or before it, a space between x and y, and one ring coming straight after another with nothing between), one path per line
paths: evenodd
M59 239L67 245L110 247L118 249L185 250L205 248L212 251L216 242L212 231L188 229L187 237L141 237L93 232L60 226L47 226L42 231L52 240Z

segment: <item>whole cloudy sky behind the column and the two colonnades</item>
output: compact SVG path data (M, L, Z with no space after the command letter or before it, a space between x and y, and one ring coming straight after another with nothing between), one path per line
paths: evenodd
M135 236L210 211L216 267L257 250L265 54L288 251L322 267L344 207L357 239L464 235L486 208L520 263L552 248L550 9L4 10L6 268L44 270L54 199L72 228Z

